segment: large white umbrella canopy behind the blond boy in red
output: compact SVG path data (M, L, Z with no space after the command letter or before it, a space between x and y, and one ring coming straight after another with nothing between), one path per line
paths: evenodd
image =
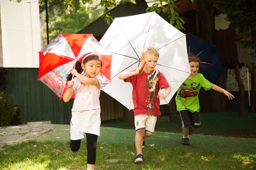
M132 85L118 79L118 74L140 65L140 53L146 46L158 49L157 69L161 70L171 86L171 93L160 104L167 104L190 75L186 36L157 13L144 13L115 18L100 40L112 54L111 83L104 88L128 109L133 109Z

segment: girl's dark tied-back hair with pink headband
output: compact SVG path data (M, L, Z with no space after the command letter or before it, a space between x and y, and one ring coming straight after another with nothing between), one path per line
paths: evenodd
M86 56L86 55L88 55L88 54L90 54L90 53L91 53L91 52L84 54L83 57ZM101 62L101 58L100 58L99 56L97 56L97 55L89 55L89 56L87 56L87 57L83 60L83 64L86 64L86 63L87 63L88 61L90 61L90 60L98 60L98 61ZM102 62L101 62L101 66L102 66ZM82 68L81 63L80 63L79 60L76 61L75 69L76 69L76 71L77 71L78 73L80 73L80 74L83 72L83 68ZM67 75L67 81L72 80L72 77L73 77L73 75L71 74L71 71L70 71L70 73ZM74 77L76 77L76 76L74 76Z

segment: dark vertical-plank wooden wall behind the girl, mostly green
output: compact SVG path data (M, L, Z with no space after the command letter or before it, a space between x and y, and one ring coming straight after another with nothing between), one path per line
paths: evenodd
M15 97L22 112L23 122L51 121L52 124L70 124L74 99L65 103L38 79L38 68L7 68L5 91ZM123 117L123 105L101 91L101 121Z

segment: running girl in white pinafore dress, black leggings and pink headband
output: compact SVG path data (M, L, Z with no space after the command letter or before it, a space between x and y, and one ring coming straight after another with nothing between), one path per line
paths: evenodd
M75 93L70 121L70 149L76 152L80 148L81 139L87 139L87 170L93 170L96 161L96 144L100 136L100 87L102 77L101 56L98 53L87 53L76 61L75 69L67 76L68 88L63 96L68 102ZM84 71L84 75L81 73Z

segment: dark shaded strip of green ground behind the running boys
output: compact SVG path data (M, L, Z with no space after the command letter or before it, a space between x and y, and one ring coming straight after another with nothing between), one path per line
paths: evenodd
M178 115L179 117L179 115ZM201 125L194 128L194 134L256 138L256 113L238 115L235 112L205 112L200 113ZM135 129L128 126L122 119L102 121L102 127L115 127L122 129ZM158 117L155 131L182 133L179 122L171 122L168 115Z

